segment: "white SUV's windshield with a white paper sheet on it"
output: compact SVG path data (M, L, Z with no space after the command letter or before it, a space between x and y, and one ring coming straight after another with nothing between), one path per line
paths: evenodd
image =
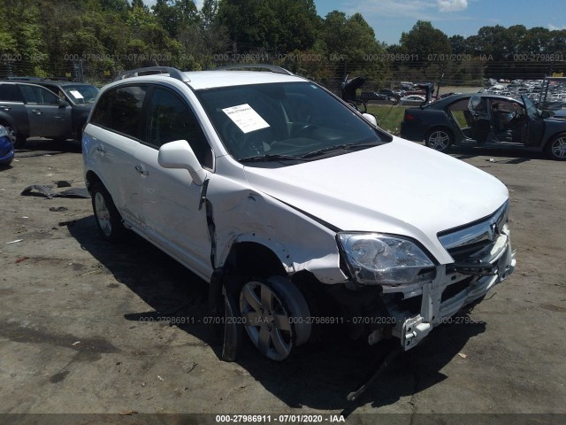
M312 82L208 89L197 96L238 160L322 157L391 140Z

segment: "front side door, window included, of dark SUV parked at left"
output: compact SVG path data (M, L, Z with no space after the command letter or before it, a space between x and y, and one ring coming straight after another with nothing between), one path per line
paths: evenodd
M29 135L66 137L72 134L71 106L48 89L19 84L29 120Z

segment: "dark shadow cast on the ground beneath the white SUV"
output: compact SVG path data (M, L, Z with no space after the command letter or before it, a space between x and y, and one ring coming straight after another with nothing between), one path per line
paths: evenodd
M124 319L208 315L208 284L141 237L133 235L126 243L108 243L97 235L93 216L74 220L68 228L84 250L150 306L148 311L126 313ZM215 328L174 326L209 344L220 361L222 346ZM440 383L447 378L440 373L442 367L470 337L484 330L485 324L478 323L435 329L425 343L395 359L357 402L391 405ZM238 363L287 406L342 410L348 415L357 406L346 400L348 393L365 383L396 340L371 347L363 341L346 339L338 332L331 334L331 339L301 347L286 361L273 362L256 352L245 336ZM407 412L410 407L407 406Z

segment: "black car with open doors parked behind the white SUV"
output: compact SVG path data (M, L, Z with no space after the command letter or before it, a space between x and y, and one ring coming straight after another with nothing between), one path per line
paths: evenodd
M401 136L436 151L452 145L546 151L566 160L566 122L541 112L527 97L453 95L405 111Z

